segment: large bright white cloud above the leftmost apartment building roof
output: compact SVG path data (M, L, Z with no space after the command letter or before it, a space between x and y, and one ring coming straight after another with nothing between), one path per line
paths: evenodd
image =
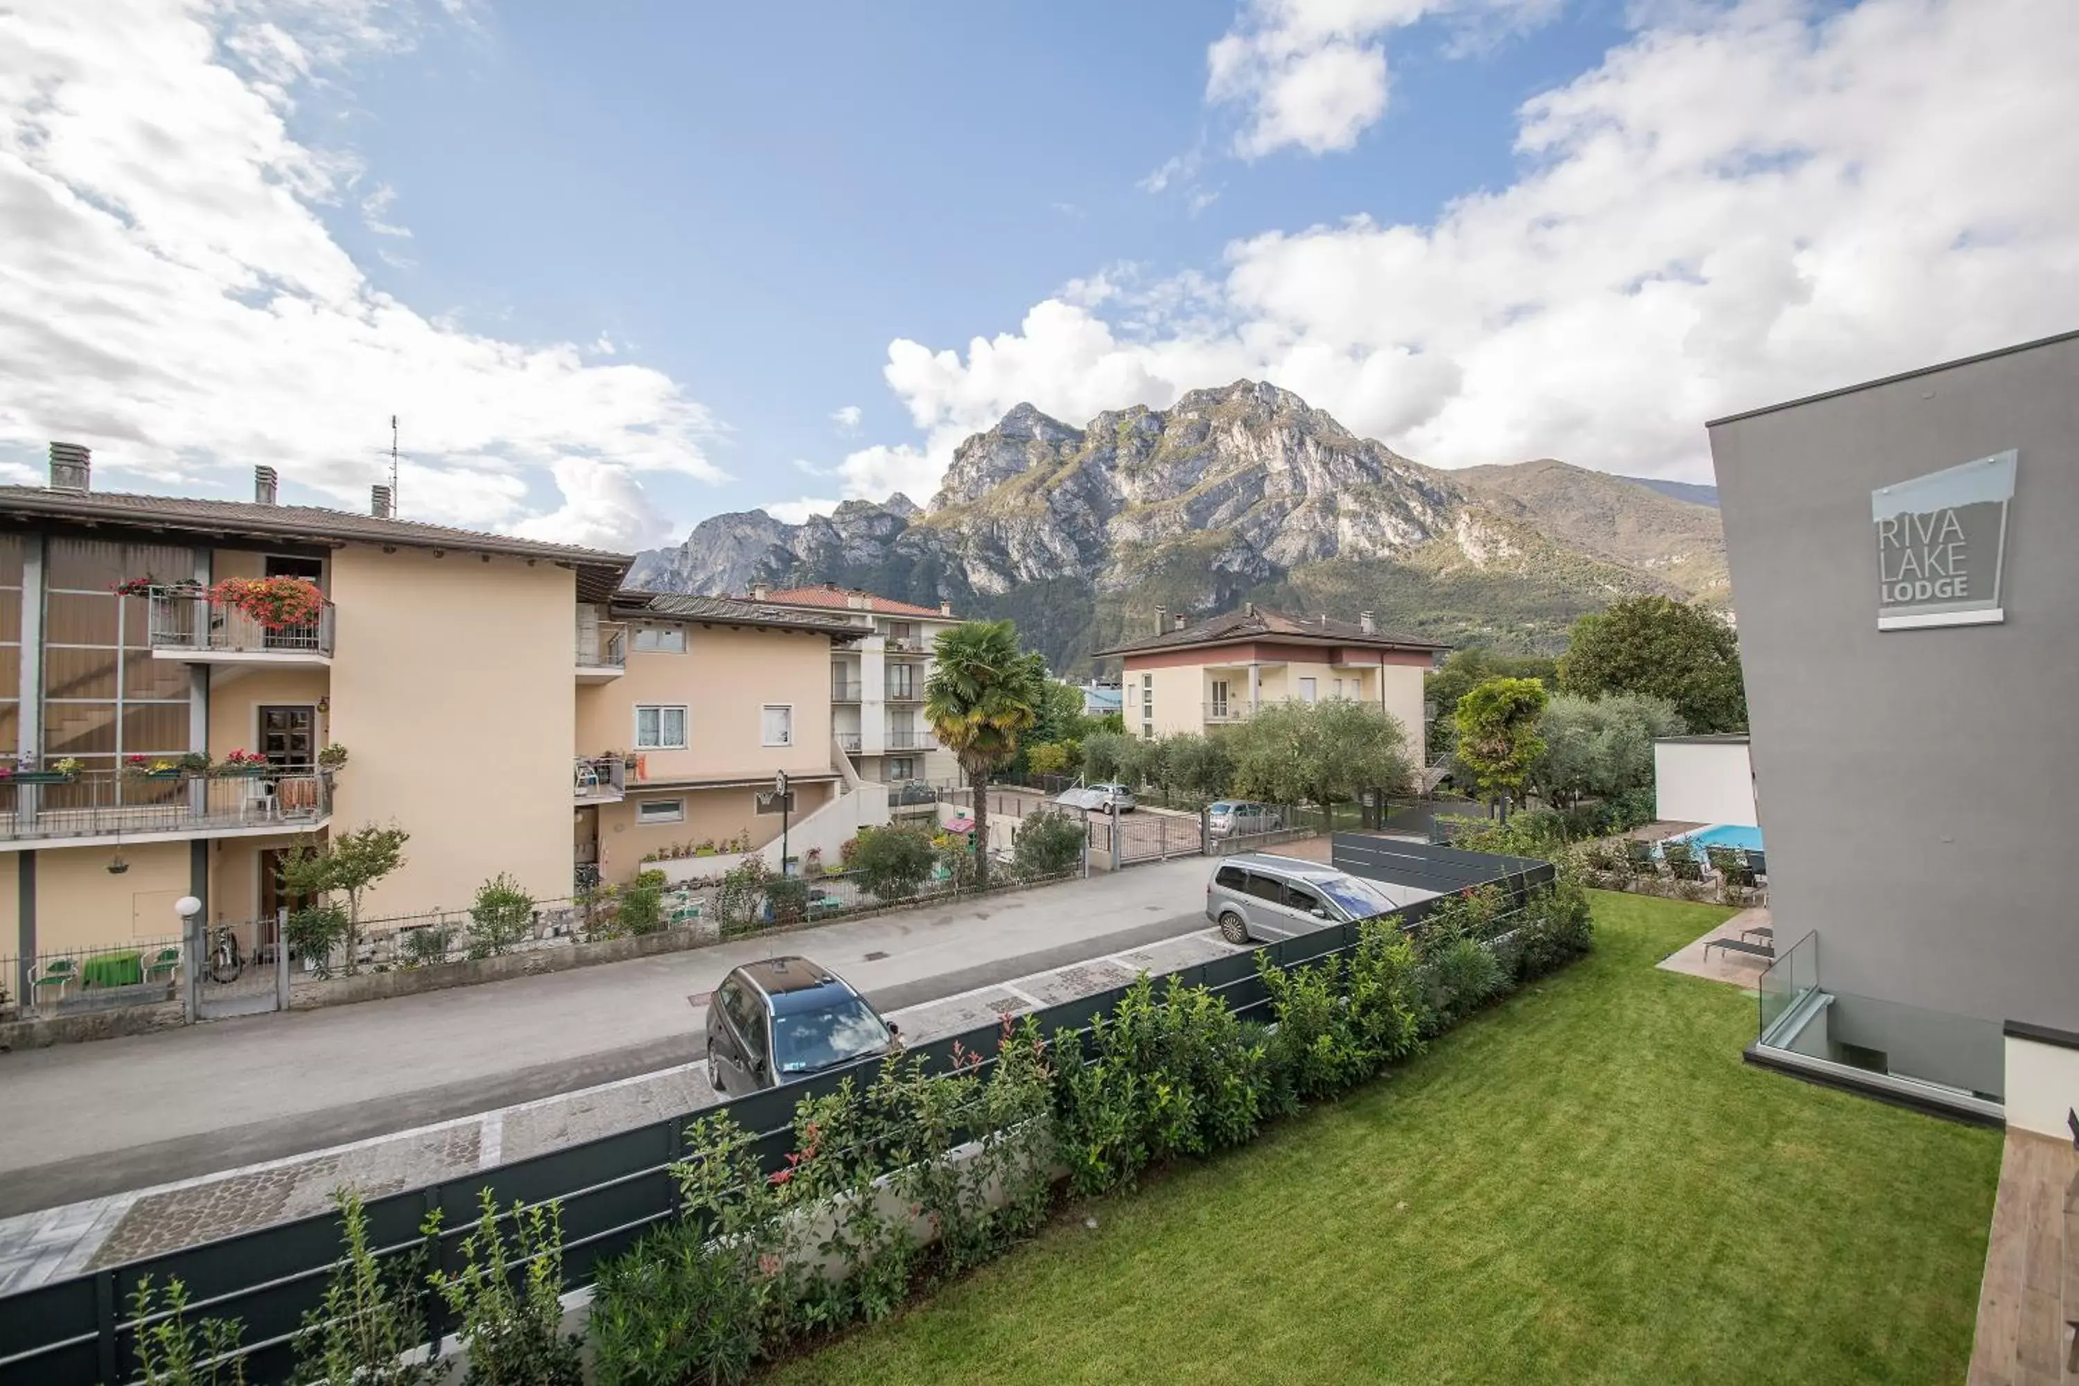
M116 484L233 495L266 459L360 509L399 414L428 465L405 515L601 544L659 528L642 474L719 480L672 378L428 318L328 233L364 170L289 133L295 100L426 23L410 0L0 10L0 447L73 438ZM395 233L393 197L347 206Z

